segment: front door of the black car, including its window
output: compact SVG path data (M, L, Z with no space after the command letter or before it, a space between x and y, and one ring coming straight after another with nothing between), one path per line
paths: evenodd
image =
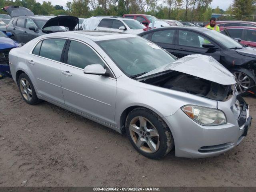
M204 35L190 30L178 30L178 44L176 45L176 51L174 55L178 58L190 54L203 54L209 55L220 61L220 48L218 45L214 44L209 38ZM203 48L204 43L214 44L216 49Z

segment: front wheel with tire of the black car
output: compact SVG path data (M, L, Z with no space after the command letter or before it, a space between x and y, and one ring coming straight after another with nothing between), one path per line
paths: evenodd
M250 76L248 76L247 74L240 71L232 70L231 72L236 78L235 88L238 93L241 94L241 96L247 96L248 94L250 94L246 90L254 84L253 79L250 78Z

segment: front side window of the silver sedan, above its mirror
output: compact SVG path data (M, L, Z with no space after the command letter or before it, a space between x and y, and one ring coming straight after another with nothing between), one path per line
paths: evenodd
M71 41L68 49L68 64L84 69L90 64L105 66L102 59L87 45Z

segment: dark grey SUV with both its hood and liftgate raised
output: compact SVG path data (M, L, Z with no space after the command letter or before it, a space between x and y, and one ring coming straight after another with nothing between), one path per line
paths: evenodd
M13 39L20 43L51 32L74 30L79 19L74 16L59 16L54 18L34 16L29 9L18 6L3 8L12 16L11 22L6 26L7 32L13 34Z

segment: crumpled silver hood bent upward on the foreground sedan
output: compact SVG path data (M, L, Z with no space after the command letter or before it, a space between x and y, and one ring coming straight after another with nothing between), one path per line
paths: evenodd
M222 85L236 84L235 77L229 70L222 66L222 64L212 58L212 56L200 54L185 56L170 64L156 68L138 78L167 70L182 72Z

